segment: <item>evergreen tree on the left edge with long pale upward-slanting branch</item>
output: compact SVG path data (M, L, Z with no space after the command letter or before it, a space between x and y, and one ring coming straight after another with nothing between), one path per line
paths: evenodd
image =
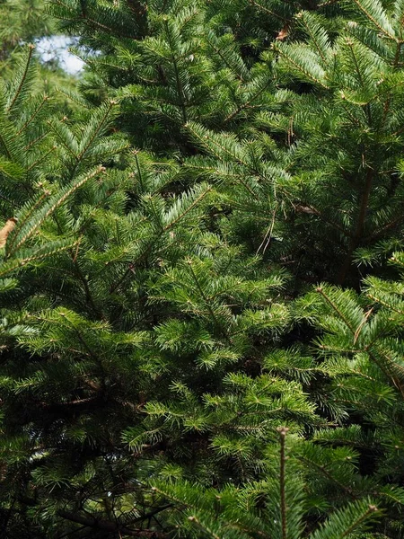
M48 96L30 97L35 82L32 52L31 46L21 72L12 83L4 85L1 103L1 212L8 218L1 234L3 261L0 276L4 314L2 529L7 536L17 531L27 536L31 533L33 521L29 518L30 513L15 506L33 489L30 469L38 467L40 457L46 459L48 450L51 453L57 451L56 446L48 446L50 440L51 444L62 441L62 437L58 437L60 431L55 431L58 420L53 415L51 393L59 394L60 401L65 402L66 394L60 393L59 385L70 377L68 388L72 388L70 384L75 387L74 378L68 375L67 366L61 362L55 377L50 376L48 388L44 387L45 393L34 389L37 384L41 386L40 379L47 386L47 371L55 367L57 352L51 350L51 345L48 349L49 362L45 365L47 362L41 363L38 354L32 356L30 347L24 352L19 351L17 342L20 338L24 340L23 335L28 340L35 340L35 335L40 334L40 326L35 329L31 325L34 320L37 321L34 325L41 325L40 313L45 316L42 323L46 320L45 313L48 316L57 313L56 298L52 298L51 293L47 298L45 293L45 290L51 291L56 286L56 279L51 278L51 273L42 278L48 271L45 261L49 268L53 268L56 277L59 257L64 259L66 256L74 275L82 276L85 299L78 301L91 301L85 276L76 261L81 244L80 230L88 224L83 217L85 210L80 219L74 209L75 197L79 190L83 193L87 190L86 196L91 197L93 193L98 197L99 205L105 199L111 205L114 199L115 204L122 203L122 197L119 199L119 195L113 193L113 185L119 182L119 171L110 175L101 164L100 157L102 155L103 160L108 160L109 155L119 155L127 148L126 141L119 137L101 138L101 133L108 129L114 103L106 103L100 110L88 111L86 123L75 123L72 131L66 117L54 116L56 110L48 106ZM80 208L85 207L86 196L83 196ZM96 208L97 204L94 204ZM60 288L60 281L57 288L60 296L66 295L63 286ZM25 389L23 380L27 382ZM43 411L41 407L45 407ZM41 416L43 421L38 422ZM15 532L9 532L9 525ZM33 536L37 534L36 527L33 526Z

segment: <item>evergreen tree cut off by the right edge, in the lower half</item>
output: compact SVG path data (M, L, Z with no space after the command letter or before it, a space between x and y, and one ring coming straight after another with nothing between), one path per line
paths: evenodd
M321 429L322 446L350 446L360 455L366 488L379 492L386 509L384 533L402 537L402 252L391 257L400 280L368 277L364 290L323 285L301 306L322 330L317 340L327 373L324 407L343 418L338 429ZM356 486L356 485L355 485Z

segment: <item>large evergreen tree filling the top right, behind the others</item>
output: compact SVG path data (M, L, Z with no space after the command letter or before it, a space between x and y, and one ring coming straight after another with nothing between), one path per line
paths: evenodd
M139 19L127 4L84 4L52 7L103 51L83 92L121 100L120 128L174 156L187 181L219 182L238 212L236 243L299 280L354 287L356 261L397 247L400 2L153 2L147 31L130 37L119 28ZM276 25L262 40L254 9Z

